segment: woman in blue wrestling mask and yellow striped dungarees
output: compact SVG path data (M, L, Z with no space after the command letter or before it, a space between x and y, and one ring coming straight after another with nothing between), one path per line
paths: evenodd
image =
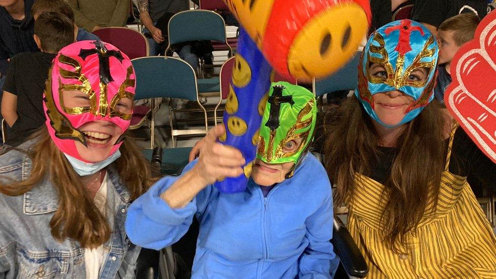
M496 238L467 182L494 181L496 166L431 102L435 36L394 21L361 55L355 95L326 119L324 152L368 276L496 277Z

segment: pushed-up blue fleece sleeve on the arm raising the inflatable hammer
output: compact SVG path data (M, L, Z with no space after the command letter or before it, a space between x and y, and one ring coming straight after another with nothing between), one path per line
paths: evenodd
M190 163L183 174L195 164L196 161ZM212 185L203 189L183 208L172 209L160 197L177 179L162 178L131 204L126 217L126 233L131 242L154 250L170 246L188 231L193 215L204 210Z

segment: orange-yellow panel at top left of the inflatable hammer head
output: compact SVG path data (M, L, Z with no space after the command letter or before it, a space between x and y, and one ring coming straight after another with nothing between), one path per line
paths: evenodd
M226 0L227 5L246 32L262 49L263 37L274 0Z

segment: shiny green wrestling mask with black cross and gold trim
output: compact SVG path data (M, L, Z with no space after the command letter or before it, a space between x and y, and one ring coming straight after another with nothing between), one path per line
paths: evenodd
M271 84L263 111L257 159L268 164L298 163L314 135L317 106L314 94L288 82ZM262 108L260 110L260 108ZM302 138L299 148L284 152L285 145Z

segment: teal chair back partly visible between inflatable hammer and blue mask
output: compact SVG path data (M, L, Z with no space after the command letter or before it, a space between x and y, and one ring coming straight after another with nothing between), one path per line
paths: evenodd
M354 90L358 84L359 62L360 52L357 51L348 64L334 74L321 80L314 79L313 89L315 96L320 97L326 93L340 90Z

